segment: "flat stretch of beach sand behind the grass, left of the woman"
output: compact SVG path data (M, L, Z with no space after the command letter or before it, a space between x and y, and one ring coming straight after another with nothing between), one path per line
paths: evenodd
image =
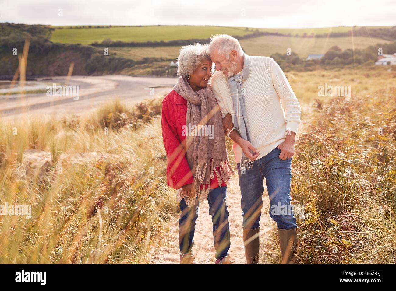
M26 97L21 94L1 95L0 115L3 120L80 115L117 98L130 105L145 99L163 97L171 91L176 81L177 78L124 75L72 76L68 85L79 86L78 99L73 96L48 97L46 92L30 93ZM49 86L53 83L66 85L66 77L40 78L38 82Z

